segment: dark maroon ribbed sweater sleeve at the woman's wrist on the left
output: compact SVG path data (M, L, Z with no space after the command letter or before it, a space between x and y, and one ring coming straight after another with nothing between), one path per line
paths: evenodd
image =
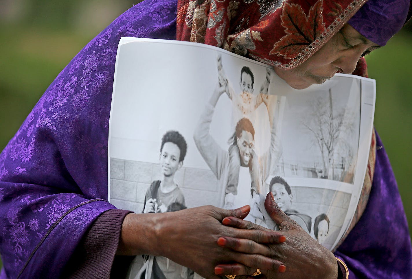
M66 265L64 278L122 278L134 256L115 256L128 210L110 209L96 219ZM112 276L111 276L112 274Z

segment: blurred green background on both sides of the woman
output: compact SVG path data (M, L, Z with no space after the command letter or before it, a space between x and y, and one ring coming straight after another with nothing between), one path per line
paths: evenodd
M138 0L0 0L0 150L82 47ZM367 56L376 79L375 127L412 226L412 24ZM408 155L409 154L409 155ZM1 266L1 261L0 261Z

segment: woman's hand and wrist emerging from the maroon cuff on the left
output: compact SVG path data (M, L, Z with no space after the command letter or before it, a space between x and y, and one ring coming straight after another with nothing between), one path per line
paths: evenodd
M218 263L241 263L252 269L278 270L282 263L259 254L241 253L218 245L221 236L250 239L251 243L284 241L278 231L245 230L222 225L228 216L245 218L250 207L225 210L213 206L158 214L128 214L118 254L165 256L205 278L218 279ZM257 249L258 250L258 249Z

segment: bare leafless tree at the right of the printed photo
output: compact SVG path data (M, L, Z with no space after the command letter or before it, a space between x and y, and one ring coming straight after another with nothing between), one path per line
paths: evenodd
M339 150L342 163L342 174L351 167L353 151L348 140L353 134L352 112L345 111L344 108L336 109L333 107L332 90L329 89L328 98L317 98L309 105L311 112L301 123L305 130L312 136L312 140L318 146L321 153L323 170L322 178L334 179L335 153L337 146L345 146ZM342 137L342 135L345 135ZM340 174L339 174L340 175Z

